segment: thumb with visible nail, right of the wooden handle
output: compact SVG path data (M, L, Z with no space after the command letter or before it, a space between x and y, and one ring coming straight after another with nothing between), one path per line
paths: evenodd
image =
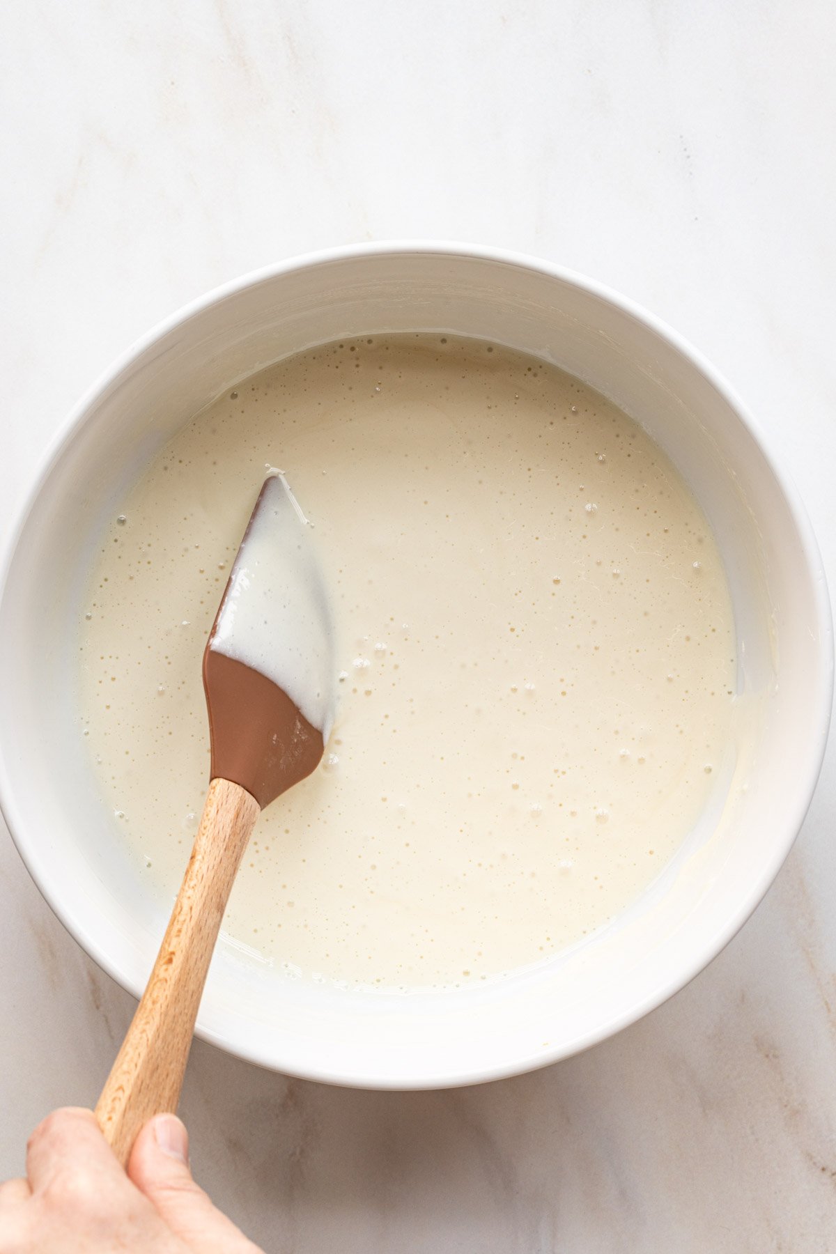
M128 1176L173 1233L207 1254L259 1254L192 1179L188 1134L175 1115L155 1115L134 1141Z

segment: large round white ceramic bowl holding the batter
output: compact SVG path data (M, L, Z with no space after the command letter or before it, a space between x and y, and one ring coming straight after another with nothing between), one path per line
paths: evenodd
M617 1032L706 966L798 831L832 686L830 607L807 519L726 384L656 319L578 275L481 248L342 248L249 275L134 345L64 425L23 513L0 602L0 796L44 897L139 993L169 903L132 877L74 722L75 624L97 539L159 446L254 370L317 342L434 330L555 362L638 419L691 484L732 587L738 690L757 735L671 868L609 928L480 989L340 992L221 946L206 1040L290 1073L368 1087L489 1080Z

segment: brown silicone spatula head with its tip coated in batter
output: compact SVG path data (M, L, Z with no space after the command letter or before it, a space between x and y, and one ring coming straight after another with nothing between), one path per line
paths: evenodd
M203 655L212 779L263 809L316 769L333 721L332 637L310 523L271 473Z

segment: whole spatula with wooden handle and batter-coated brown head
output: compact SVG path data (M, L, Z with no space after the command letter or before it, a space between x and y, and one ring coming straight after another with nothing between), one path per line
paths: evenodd
M95 1109L127 1164L175 1111L203 984L258 814L318 765L332 721L332 632L308 523L281 472L261 490L203 655L209 791L174 909Z

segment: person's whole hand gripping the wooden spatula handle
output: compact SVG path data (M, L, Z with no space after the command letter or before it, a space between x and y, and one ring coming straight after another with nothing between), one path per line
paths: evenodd
M0 1185L0 1254L262 1254L192 1180L174 1115L143 1127L122 1170L89 1110L56 1110Z

